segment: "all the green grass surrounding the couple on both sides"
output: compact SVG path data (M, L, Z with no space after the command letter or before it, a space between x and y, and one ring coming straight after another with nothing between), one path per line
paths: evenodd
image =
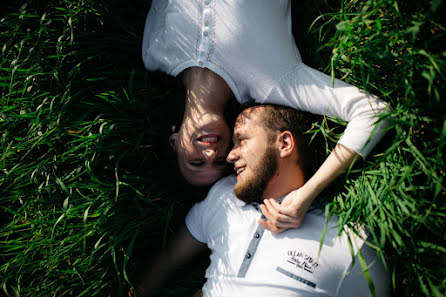
M3 6L2 294L124 296L198 197L172 194L177 185L161 174L174 85L142 66L150 6ZM394 296L445 294L442 8L377 0L307 1L293 10L307 64L391 103L388 134L334 186L330 209L340 223L370 228ZM335 121L317 127L328 148L342 131ZM202 268L180 275L163 295L200 287Z

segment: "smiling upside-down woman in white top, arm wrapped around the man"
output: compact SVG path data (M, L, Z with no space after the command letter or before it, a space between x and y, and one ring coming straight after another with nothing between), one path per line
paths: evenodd
M298 227L313 199L383 136L374 133L386 103L302 63L291 32L289 0L154 0L147 16L143 60L148 70L178 76L186 109L171 136L180 171L194 185L221 177L230 143L226 102L291 106L348 122L319 170L281 205L265 200L273 231Z

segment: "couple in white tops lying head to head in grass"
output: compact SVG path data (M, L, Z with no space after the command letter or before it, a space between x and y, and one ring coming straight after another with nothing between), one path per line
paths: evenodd
M383 136L385 123L376 122L386 103L302 63L290 1L153 1L143 59L147 69L178 77L186 89L183 120L170 137L185 180L213 184L227 162L237 178L217 182L191 209L186 227L149 269L137 296L150 294L205 244L212 254L204 296L384 294L381 262L366 269L375 258L364 243L366 232L347 229L337 237L335 219L324 229L324 217L305 214ZM266 105L238 117L231 150L224 111L232 97ZM312 176L305 175L311 159L302 137L311 126L296 110L348 122ZM354 259L361 265L352 268Z

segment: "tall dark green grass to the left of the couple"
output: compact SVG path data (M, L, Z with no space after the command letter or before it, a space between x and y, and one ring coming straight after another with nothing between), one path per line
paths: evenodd
M134 4L27 1L1 20L8 296L122 296L136 239L163 234L174 203L158 186L154 150L165 94L139 65L148 6Z

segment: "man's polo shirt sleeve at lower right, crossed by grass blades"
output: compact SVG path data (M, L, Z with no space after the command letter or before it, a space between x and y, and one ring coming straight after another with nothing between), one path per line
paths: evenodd
M389 296L389 274L382 261L378 258L375 251L366 244L363 244L361 255L364 258L368 271L375 288L376 297ZM352 269L348 270L346 276L341 281L338 289L338 297L369 297L373 296L370 292L369 285L362 271L362 266L359 263L358 255L355 258L355 265Z

